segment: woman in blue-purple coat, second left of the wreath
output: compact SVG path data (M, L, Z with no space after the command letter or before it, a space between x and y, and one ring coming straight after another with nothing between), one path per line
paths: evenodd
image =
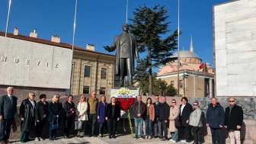
M99 102L98 110L97 110L97 119L98 119L98 123L100 123L100 126L99 126L100 137L103 137L104 126L107 125L107 121L105 120L106 109L107 109L106 96L102 95L101 102Z

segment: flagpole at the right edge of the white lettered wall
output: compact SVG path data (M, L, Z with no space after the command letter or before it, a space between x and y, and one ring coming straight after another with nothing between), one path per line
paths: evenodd
M76 25L76 9L78 5L78 0L75 0L75 18L74 18L74 27L73 27L73 40L72 40L72 59L71 59L71 75L70 75L70 85L69 85L69 94L72 94L72 75L73 75L73 57L74 57L74 44L75 44L75 25Z

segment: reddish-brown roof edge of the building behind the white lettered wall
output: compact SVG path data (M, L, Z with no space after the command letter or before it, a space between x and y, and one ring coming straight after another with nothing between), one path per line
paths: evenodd
M0 31L0 37L1 36L5 37L5 33L2 32L2 31ZM21 34L14 35L14 34L9 34L8 33L7 37L11 37L11 38L14 38L14 39L19 39L19 40L27 40L27 41L34 42L34 43L43 43L43 44L50 45L50 46L59 46L59 47L63 47L63 48L66 48L66 49L72 49L72 45L68 44L68 43L55 43L55 42L52 42L51 40L43 40L43 39L35 38L35 37L27 37L27 36L23 36ZM107 54L107 53L99 53L99 52L95 52L95 51L92 51L92 50L86 50L85 48L78 47L78 46L74 46L74 50L86 51L86 52L89 52L89 53L102 54L102 55L107 55L107 56L114 56L114 55L110 55L110 54Z

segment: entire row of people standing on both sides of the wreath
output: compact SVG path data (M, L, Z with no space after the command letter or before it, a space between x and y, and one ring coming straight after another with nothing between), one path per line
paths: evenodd
M43 140L41 135L43 126L46 121L50 125L49 139L56 139L56 130L59 122L64 115L64 138L69 137L74 120L82 121L82 129L78 130L77 136L97 136L94 132L96 120L99 123L99 135L103 137L104 128L107 127L109 138L116 138L117 121L120 120L120 105L117 99L112 97L110 103L107 104L106 97L101 96L99 101L96 98L96 92L92 91L91 98L86 101L85 95L82 95L78 101L77 107L73 102L72 95L68 96L68 100L63 104L59 101L59 94L53 96L53 100L48 103L46 94L40 94L40 101L35 101L35 93L30 92L28 98L21 102L20 113L17 113L18 98L13 95L14 88L8 87L7 94L0 97L0 143L11 143L9 136L11 133L11 125L17 123L21 119L21 142L30 141L30 132L35 129L35 141ZM163 97L159 101L159 97L155 96L155 102L152 98L147 98L146 104L142 102L142 97L137 96L137 101L133 105L134 123L135 123L135 139L152 139L159 137L163 141L168 140L168 131L171 132L171 141L178 142L178 130L184 131L184 139L182 142L190 142L190 129L194 136L194 144L201 143L200 127L202 123L202 110L198 101L194 101L194 108L188 103L186 97L181 98L182 104L177 105L176 100L171 100L171 106L166 103ZM146 124L146 136L143 137L143 121ZM240 144L240 131L243 121L243 110L235 104L235 98L229 98L229 107L224 112L223 107L216 98L211 99L206 112L206 126L210 127L212 133L213 144L222 143L221 128L225 127L229 130L229 138L232 144ZM88 125L85 123L88 122ZM85 127L87 127L85 129ZM139 136L138 136L138 128Z

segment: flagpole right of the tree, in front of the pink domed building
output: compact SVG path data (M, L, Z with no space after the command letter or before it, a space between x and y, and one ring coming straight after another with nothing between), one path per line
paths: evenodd
M180 96L180 0L178 0L178 97Z

